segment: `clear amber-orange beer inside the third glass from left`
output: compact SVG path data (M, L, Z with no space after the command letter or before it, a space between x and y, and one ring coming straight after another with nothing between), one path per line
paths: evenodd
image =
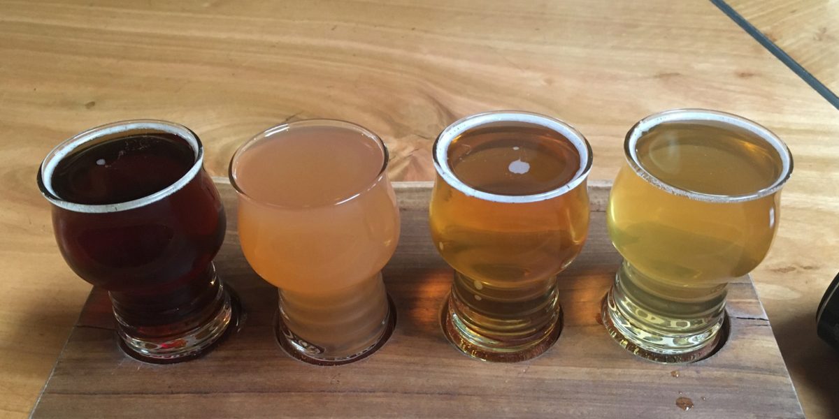
M580 168L573 145L541 129L472 132L449 150L456 176L492 194L557 189ZM581 251L588 220L585 182L553 199L510 204L468 196L438 177L430 228L440 255L457 272L451 304L460 333L509 351L549 334L557 319L556 274Z

